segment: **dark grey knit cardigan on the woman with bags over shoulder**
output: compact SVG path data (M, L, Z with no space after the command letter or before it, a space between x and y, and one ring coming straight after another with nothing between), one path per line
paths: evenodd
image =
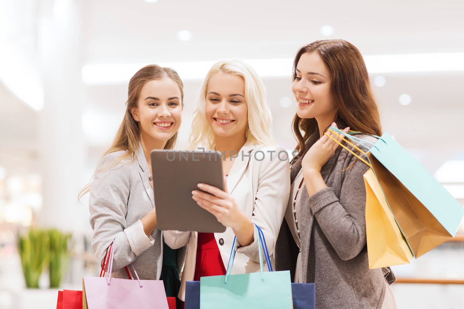
M357 137L376 141L366 135ZM319 132L309 137L306 151L318 138ZM385 280L394 282L389 268L368 267L363 179L368 166L355 159L339 147L321 170L328 188L311 197L306 186L302 188L299 228L303 282L316 283L318 309L381 308ZM291 182L300 169L301 158L292 166ZM298 247L284 219L276 244L276 269L290 270L293 278L297 255Z

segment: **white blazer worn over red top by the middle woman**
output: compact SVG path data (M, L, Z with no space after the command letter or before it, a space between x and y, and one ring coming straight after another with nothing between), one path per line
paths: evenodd
M242 156L242 153L245 156ZM277 157L279 153L281 159ZM246 156L247 154L250 154L250 159ZM277 235L284 219L290 195L290 164L284 148L253 145L246 142L229 171L227 189L235 198L238 207L263 230L264 239L271 255L271 263L274 265L272 252L274 252ZM214 233L226 269L234 236L230 227L227 227L224 233ZM197 232L164 232L164 241L171 248L177 249L188 244L179 291L179 298L182 301L185 301L185 283L192 281L195 274L197 237ZM232 274L259 271L256 228L253 237L254 240L249 246L238 247L237 245ZM222 245L219 243L220 239L223 240L223 242L221 241ZM266 269L266 267L264 268Z

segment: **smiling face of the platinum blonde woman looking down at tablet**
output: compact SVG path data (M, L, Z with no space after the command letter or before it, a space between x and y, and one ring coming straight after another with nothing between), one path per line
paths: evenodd
M245 136L248 107L243 78L223 72L211 76L206 90L205 114L216 135Z

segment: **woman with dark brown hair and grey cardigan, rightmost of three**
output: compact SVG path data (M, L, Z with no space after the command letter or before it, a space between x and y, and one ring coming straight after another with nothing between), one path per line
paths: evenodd
M396 308L389 287L393 273L368 267L363 180L368 166L324 135L337 126L375 143L370 135L382 133L361 53L344 40L313 42L296 53L292 77L299 159L291 168L276 269L290 270L295 282L316 283L319 309Z

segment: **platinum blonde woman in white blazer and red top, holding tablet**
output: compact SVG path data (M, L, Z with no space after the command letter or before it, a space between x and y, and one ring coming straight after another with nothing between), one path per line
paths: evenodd
M192 198L214 214L226 232L165 232L171 248L188 244L180 299L185 298L186 281L225 274L234 236L238 245L232 274L259 271L254 223L263 230L272 254L290 194L290 167L271 130L271 111L256 72L241 61L214 64L200 90L190 148L225 153L226 191L199 184L208 193L193 190Z

